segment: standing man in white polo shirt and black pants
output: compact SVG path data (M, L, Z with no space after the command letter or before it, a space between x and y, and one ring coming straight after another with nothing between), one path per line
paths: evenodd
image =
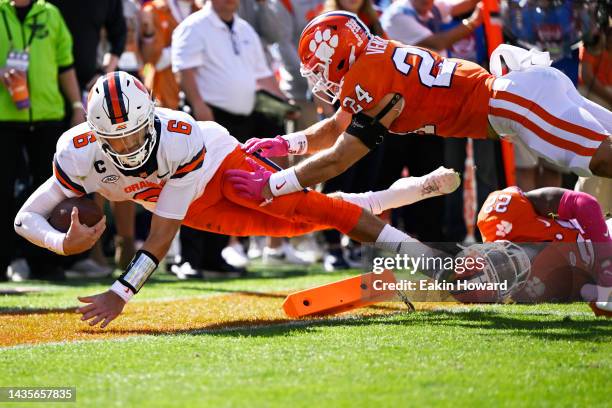
M238 0L211 0L187 17L172 35L172 69L197 120L214 120L244 142L254 135L282 133L254 112L258 88L282 97L255 30L236 12ZM206 270L239 276L221 250L228 238L182 227L181 275ZM198 270L200 272L198 272Z

